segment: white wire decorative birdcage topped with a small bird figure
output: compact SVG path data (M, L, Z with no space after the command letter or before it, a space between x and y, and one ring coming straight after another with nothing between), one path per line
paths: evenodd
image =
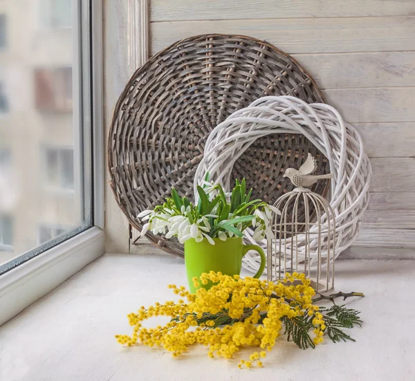
M284 176L297 186L278 198L274 206L281 214L269 221L267 277L269 281L283 279L286 273L304 273L318 292L334 288L336 248L335 213L328 201L307 186L331 174L313 176L311 156L299 170L287 169ZM299 210L304 214L299 215Z

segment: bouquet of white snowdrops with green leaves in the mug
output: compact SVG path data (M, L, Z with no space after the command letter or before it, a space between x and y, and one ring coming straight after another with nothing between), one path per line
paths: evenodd
M165 234L167 239L176 236L180 243L207 239L214 245L213 238L225 241L228 237L241 237L243 230L252 227L253 238L259 241L271 234L268 220L272 213L280 214L276 207L259 199L250 201L252 189L246 192L245 179L236 180L232 192L225 193L220 184L210 183L207 175L197 192L198 201L192 203L172 189L172 197L166 198L163 205L138 214L139 219L146 221L141 235L151 230L153 234Z

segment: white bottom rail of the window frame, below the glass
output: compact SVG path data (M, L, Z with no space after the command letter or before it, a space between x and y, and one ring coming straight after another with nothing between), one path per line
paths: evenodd
M104 254L98 227L22 263L0 277L0 325Z

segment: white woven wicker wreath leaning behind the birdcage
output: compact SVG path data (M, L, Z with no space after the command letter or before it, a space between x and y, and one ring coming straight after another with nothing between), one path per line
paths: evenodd
M302 133L328 158L334 175L330 204L335 213L337 257L358 236L362 213L369 203L371 165L358 131L328 104L307 104L296 97L270 96L259 98L246 109L230 115L208 137L203 160L194 177L194 194L207 171L212 180L230 189L234 162L255 140L271 133ZM252 233L246 230L246 239L255 243ZM304 239L304 235L299 239ZM260 244L266 249L265 239ZM317 243L311 250L315 248ZM315 253L310 254L313 258ZM256 272L259 256L248 253L243 258L243 267Z

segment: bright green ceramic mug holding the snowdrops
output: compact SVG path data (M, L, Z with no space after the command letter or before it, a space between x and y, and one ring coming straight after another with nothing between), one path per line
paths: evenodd
M254 278L259 278L265 268L265 253L258 245L244 245L242 238L232 237L221 241L214 238L214 245L203 239L196 242L194 239L185 241L185 265L190 291L196 292L192 279L199 278L203 272L222 272L225 275L239 275L241 273L242 258L249 250L255 250L261 256L261 266ZM202 286L210 288L212 284Z

